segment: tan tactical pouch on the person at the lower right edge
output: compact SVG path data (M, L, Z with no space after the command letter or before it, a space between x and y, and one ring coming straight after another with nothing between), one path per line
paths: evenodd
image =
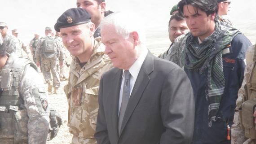
M256 130L254 123L254 108L256 106L256 100L247 100L242 104L242 122L245 131L245 137L255 139Z

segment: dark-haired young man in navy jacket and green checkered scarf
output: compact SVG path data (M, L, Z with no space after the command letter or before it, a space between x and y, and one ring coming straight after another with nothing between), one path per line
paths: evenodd
M183 43L173 46L183 49L174 62L184 66L194 90L193 144L230 144L244 55L251 43L218 21L216 0L181 0L178 10L190 29Z

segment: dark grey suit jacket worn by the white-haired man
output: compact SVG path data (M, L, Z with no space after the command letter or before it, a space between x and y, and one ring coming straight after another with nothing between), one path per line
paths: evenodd
M97 144L190 144L194 97L185 72L148 52L133 87L118 134L118 102L123 70L100 81Z

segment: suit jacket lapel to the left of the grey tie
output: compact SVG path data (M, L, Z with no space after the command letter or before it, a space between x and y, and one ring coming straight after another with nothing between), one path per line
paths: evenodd
M120 93L120 87L121 87L121 82L122 82L122 75L123 75L123 70L117 69L116 73L114 74L113 83L116 83L117 86L113 87L113 85L110 85L110 95L113 96L110 97L108 100L108 104L110 105L110 115L111 115L111 120L113 125L113 130L115 132L115 139L118 140L118 105L119 105L119 93Z

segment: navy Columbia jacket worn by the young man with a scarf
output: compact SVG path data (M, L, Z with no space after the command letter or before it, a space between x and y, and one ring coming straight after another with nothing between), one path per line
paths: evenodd
M207 70L204 74L199 74L198 71L184 68L191 81L195 98L193 144L230 144L230 140L227 140L227 124L230 127L233 124L237 93L243 82L245 52L250 45L250 41L244 35L238 34L231 41L230 52L222 55L225 91L217 113L217 121L212 122L212 127L208 127L209 103L205 94Z

